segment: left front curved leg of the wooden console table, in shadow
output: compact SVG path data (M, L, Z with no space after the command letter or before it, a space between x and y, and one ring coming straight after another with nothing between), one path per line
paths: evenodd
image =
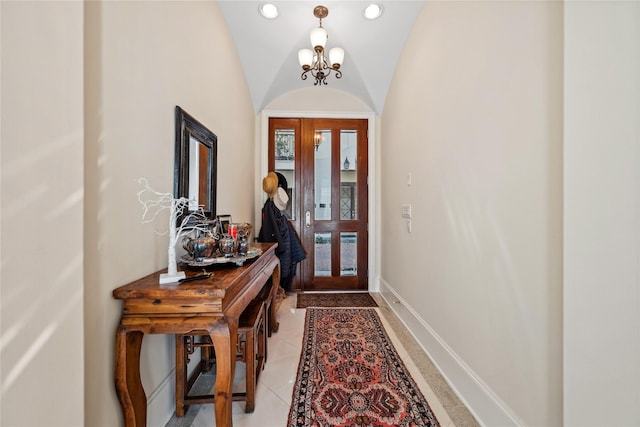
M144 334L128 331L122 325L116 331L115 382L122 407L124 425L147 425L147 396L140 379L140 349Z

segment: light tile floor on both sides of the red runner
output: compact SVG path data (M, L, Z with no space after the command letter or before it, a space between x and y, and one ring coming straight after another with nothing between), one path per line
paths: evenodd
M378 313L398 353L405 361L414 380L429 402L441 426L471 427L479 424L451 391L442 375L415 339L393 314L384 299L372 294L380 308ZM233 403L235 427L285 427L293 393L304 335L304 309L296 309L295 294L288 296L278 310L280 329L269 338L268 361L260 375L256 390L256 407L251 414L244 412L244 402ZM237 364L236 384L242 390L244 367ZM201 376L196 387L212 387L214 378ZM236 387L236 385L234 385ZM215 426L213 405L192 405L184 417L175 415L165 427Z

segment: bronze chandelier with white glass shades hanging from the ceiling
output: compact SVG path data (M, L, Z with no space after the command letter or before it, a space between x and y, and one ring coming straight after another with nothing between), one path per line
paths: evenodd
M322 28L322 19L329 15L329 9L324 6L316 6L313 9L313 16L320 20L320 26L311 30L311 49L300 49L298 51L298 61L302 67L303 73L300 76L302 80L307 79L307 73L316 79L314 86L319 84L327 84L327 76L334 71L336 78L342 77L340 66L344 60L344 50L334 47L329 50L329 62L325 56L324 46L327 44L327 30Z

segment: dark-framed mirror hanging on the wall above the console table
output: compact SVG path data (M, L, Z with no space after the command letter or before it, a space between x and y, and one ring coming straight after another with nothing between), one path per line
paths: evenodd
M176 106L173 194L193 200L189 212L201 207L210 219L216 216L217 150L216 135Z

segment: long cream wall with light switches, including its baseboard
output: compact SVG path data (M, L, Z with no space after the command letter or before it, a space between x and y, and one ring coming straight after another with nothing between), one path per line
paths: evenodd
M561 3L425 5L381 119L381 288L485 425L562 423L561 120Z

